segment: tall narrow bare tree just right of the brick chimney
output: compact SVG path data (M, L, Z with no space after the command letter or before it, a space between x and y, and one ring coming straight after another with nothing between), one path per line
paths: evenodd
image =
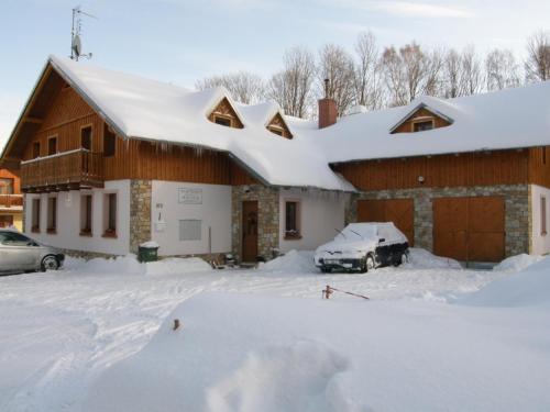
M381 109L384 104L382 68L376 37L371 32L361 33L355 43L358 63L355 65L355 104L370 110Z

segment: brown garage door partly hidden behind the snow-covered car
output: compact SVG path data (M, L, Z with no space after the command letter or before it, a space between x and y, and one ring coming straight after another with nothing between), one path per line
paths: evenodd
M415 203L413 199L359 200L358 222L394 222L415 245Z

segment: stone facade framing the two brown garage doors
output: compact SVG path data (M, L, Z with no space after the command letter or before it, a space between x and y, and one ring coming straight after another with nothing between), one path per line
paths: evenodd
M433 250L433 198L502 196L505 200L505 254L514 256L531 250L531 205L529 185L501 185L458 188L415 188L373 190L353 194L345 221L356 222L359 199L410 198L415 202L415 246Z

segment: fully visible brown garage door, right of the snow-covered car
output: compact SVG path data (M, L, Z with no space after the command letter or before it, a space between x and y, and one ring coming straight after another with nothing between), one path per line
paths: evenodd
M463 261L504 258L504 199L433 199L433 252Z

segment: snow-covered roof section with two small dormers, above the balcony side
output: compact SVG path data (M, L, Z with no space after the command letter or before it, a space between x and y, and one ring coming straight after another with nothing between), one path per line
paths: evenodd
M354 190L330 169L327 157L310 138L282 138L265 129L280 112L276 103L238 104L223 87L193 91L68 58L51 56L50 63L125 137L227 151L275 186ZM223 98L244 129L222 126L207 119Z

